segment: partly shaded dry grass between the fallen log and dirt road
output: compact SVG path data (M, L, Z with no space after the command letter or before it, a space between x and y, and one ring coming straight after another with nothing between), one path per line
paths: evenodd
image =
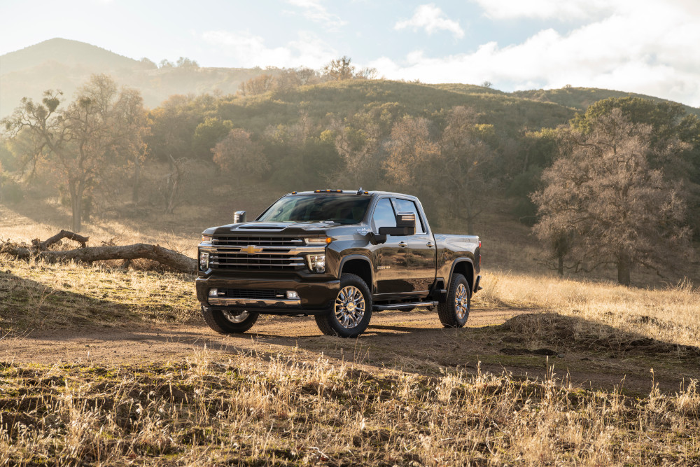
M0 330L199 319L193 277L0 256Z

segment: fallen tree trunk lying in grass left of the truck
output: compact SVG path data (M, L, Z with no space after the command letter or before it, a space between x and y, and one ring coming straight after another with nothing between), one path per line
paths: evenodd
M80 235L76 235L73 232L67 232L65 230L62 230L62 233L69 235L59 237L59 235L61 235L61 233L59 233L58 235L46 240L46 242L36 244L35 248L6 244L4 248L0 249L0 252L14 256L18 259L29 260L29 258L37 258L50 263L68 261L92 263L93 261L100 260L135 260L143 258L157 261L162 265L172 267L174 270L186 272L188 274L194 274L197 271L197 260L194 258L185 256L177 251L163 248L160 245L151 245L146 243L123 246L85 246L84 248L66 251L50 251L41 249L41 245L49 242L49 240L54 239L55 237L58 238L55 239L54 242L57 242L58 239L61 238L70 238L80 242L78 239ZM80 238L85 239L85 242L87 242L87 237Z

